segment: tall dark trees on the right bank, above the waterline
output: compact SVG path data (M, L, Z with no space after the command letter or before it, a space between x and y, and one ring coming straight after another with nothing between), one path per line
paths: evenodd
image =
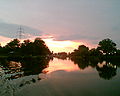
M78 49L75 49L72 53L69 54L70 57L81 57L88 58L88 56L120 56L120 50L117 49L116 43L114 43L111 39L107 38L101 40L98 43L97 48L89 49L89 47L85 45L80 45Z

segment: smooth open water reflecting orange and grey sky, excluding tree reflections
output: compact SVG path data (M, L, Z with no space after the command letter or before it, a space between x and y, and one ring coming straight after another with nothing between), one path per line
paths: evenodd
M22 87L15 94L17 96L119 96L120 94L119 70L118 75L109 81L101 79L98 72L91 68L78 71L78 66L66 60L54 59L45 70L50 72L44 75L45 79ZM41 75L39 76L41 78Z

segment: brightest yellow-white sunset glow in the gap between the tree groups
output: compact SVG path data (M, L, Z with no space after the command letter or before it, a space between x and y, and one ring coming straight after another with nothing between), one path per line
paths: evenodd
M83 44L81 42L75 41L56 41L53 38L43 39L51 51L54 52L72 52L74 49L78 48L79 45Z

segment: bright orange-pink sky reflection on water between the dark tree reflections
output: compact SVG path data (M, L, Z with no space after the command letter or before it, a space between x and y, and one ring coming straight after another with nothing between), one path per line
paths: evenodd
M55 71L67 71L67 72L71 72L71 71L80 71L83 73L88 73L88 72L92 72L94 69L88 67L85 68L84 70L80 70L80 68L78 67L77 64L74 64L72 61L70 60L62 60L62 59L57 59L54 58L53 61L50 61L49 63L49 67L44 69L44 71L51 73L51 72L55 72Z

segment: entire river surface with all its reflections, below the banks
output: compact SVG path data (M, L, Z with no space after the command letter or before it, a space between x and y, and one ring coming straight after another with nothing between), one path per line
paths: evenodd
M0 96L120 96L119 66L74 63L56 58L2 61Z

